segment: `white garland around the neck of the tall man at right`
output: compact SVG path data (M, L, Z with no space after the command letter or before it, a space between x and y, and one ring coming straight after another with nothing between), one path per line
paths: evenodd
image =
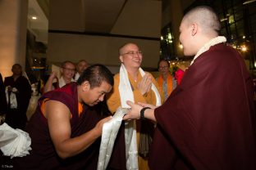
M208 49L218 43L222 43L222 42L226 42L226 38L223 36L218 36L216 38L211 39L209 42L207 42L203 47L201 47L199 49L199 51L196 53L196 55L194 56L194 59L191 61L192 65L194 63L194 60L200 56L203 52L208 51Z

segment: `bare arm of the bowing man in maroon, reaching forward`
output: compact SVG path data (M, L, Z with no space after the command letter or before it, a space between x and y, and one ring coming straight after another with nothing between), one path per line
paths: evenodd
M62 159L80 154L86 150L101 136L103 123L111 119L111 117L102 119L89 132L71 138L71 113L66 105L59 101L47 101L45 103L45 116L48 119L48 128L53 145Z

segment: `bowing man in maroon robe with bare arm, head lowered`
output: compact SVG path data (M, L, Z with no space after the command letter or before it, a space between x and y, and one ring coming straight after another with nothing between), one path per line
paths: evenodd
M92 65L76 83L47 92L26 127L30 154L15 158L16 169L97 169L103 123L94 108L113 85L111 72ZM107 117L107 118L106 118Z

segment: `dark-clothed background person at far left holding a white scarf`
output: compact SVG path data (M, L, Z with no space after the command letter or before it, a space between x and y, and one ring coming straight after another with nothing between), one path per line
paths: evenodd
M12 75L4 79L7 96L7 114L5 122L11 128L25 128L27 122L26 111L30 104L31 86L27 78L22 75L19 64L12 65Z

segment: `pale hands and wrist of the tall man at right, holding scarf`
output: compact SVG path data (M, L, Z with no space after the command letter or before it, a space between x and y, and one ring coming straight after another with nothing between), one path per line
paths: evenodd
M127 119L140 119L140 111L144 107L149 107L151 109L144 110L144 118L145 119L153 120L154 122L157 121L155 116L154 116L154 109L156 108L156 106L148 105L148 104L144 104L144 103L139 103L139 105L136 105L136 104L134 104L131 101L127 101L127 104L130 105L130 111L128 112L128 114L126 114L123 117L123 120L127 120Z

